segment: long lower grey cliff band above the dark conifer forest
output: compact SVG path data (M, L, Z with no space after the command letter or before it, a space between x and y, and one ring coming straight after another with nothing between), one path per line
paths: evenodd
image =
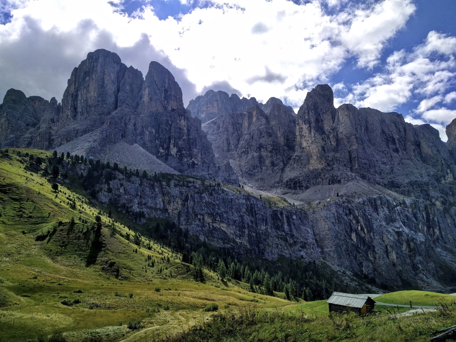
M87 168L71 165L69 173ZM104 205L144 212L140 223L167 218L246 256L322 259L390 290L445 287L456 279L454 203L435 205L349 182L337 189L339 196L319 189L305 207L275 207L264 197L214 181L182 176L152 181L118 172L108 183L101 178L95 190Z

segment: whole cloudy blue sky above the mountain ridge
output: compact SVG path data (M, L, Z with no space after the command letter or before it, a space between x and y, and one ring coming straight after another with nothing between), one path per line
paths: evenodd
M455 0L0 0L0 97L60 101L88 52L145 76L168 68L184 105L208 89L280 98L317 84L351 103L429 123L456 118Z

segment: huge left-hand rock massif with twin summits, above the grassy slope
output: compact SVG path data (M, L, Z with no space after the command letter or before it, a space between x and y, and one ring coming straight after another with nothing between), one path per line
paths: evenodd
M90 52L74 68L62 106L55 99L43 101L7 93L0 108L4 146L57 149L102 160L109 154L121 161L125 156L114 151L140 151L138 159L144 158L142 150L133 148L139 145L150 155L138 168L157 171L147 166L158 165L153 161L158 158L178 172L238 183L229 164L216 165L201 122L184 108L181 88L157 62L150 63L144 79L117 54Z

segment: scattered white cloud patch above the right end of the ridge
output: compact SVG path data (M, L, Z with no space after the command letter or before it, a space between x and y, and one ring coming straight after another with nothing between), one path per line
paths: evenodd
M412 95L425 96L421 106L440 101L456 76L456 48L447 48L453 46L454 40L455 37L430 32L412 52L392 53L383 72L354 85L347 98L354 99L358 106L383 111L396 109ZM426 109L419 107L417 111Z

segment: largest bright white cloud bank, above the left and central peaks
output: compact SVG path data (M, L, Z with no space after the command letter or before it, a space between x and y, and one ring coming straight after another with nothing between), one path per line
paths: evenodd
M133 48L145 34L154 51L149 59L160 55L176 70L181 70L183 76L186 70L198 91L226 81L243 94L250 93L263 101L271 96L279 97L294 107L302 103L307 91L317 83L329 82L348 57L355 57L360 67L375 65L388 39L415 10L411 0L383 0L346 7L340 7L334 0L300 5L287 0L214 0L212 6L195 8L177 21L171 17L159 20L149 1L144 1L140 15L138 12L133 17L113 10L106 0L10 1L18 8L13 11L11 23L0 26L0 50L13 43L26 48L26 38L33 36L33 32L27 31L32 21L38 32L45 32L49 39L57 41L71 36L78 27L81 29L82 23L90 22L90 33L83 40L71 39L68 44L62 44L62 49L55 51L54 62L57 58L68 58L74 63L73 56L81 60L81 55L85 57L88 51L98 47L117 50L114 52ZM197 4L192 0L180 1ZM119 5L121 2L115 1ZM337 13L325 13L323 2ZM435 41L438 42L438 37ZM48 44L52 46L52 41ZM30 53L44 56L48 48L37 43ZM147 70L144 53L140 53L140 58L129 56L124 62L140 64L133 65L143 73ZM43 58L33 64L36 69L47 70L46 63ZM7 73L5 79L21 73L14 67L3 71ZM66 78L70 73L68 67ZM271 77L275 82L270 82ZM26 82L21 84L23 90L43 88L37 77L30 79L28 88ZM51 82L51 77L48 79ZM258 82L251 82L252 79ZM62 84L61 80L62 77L57 83ZM193 96L191 90L181 86L184 98ZM191 84L189 87L192 89Z

